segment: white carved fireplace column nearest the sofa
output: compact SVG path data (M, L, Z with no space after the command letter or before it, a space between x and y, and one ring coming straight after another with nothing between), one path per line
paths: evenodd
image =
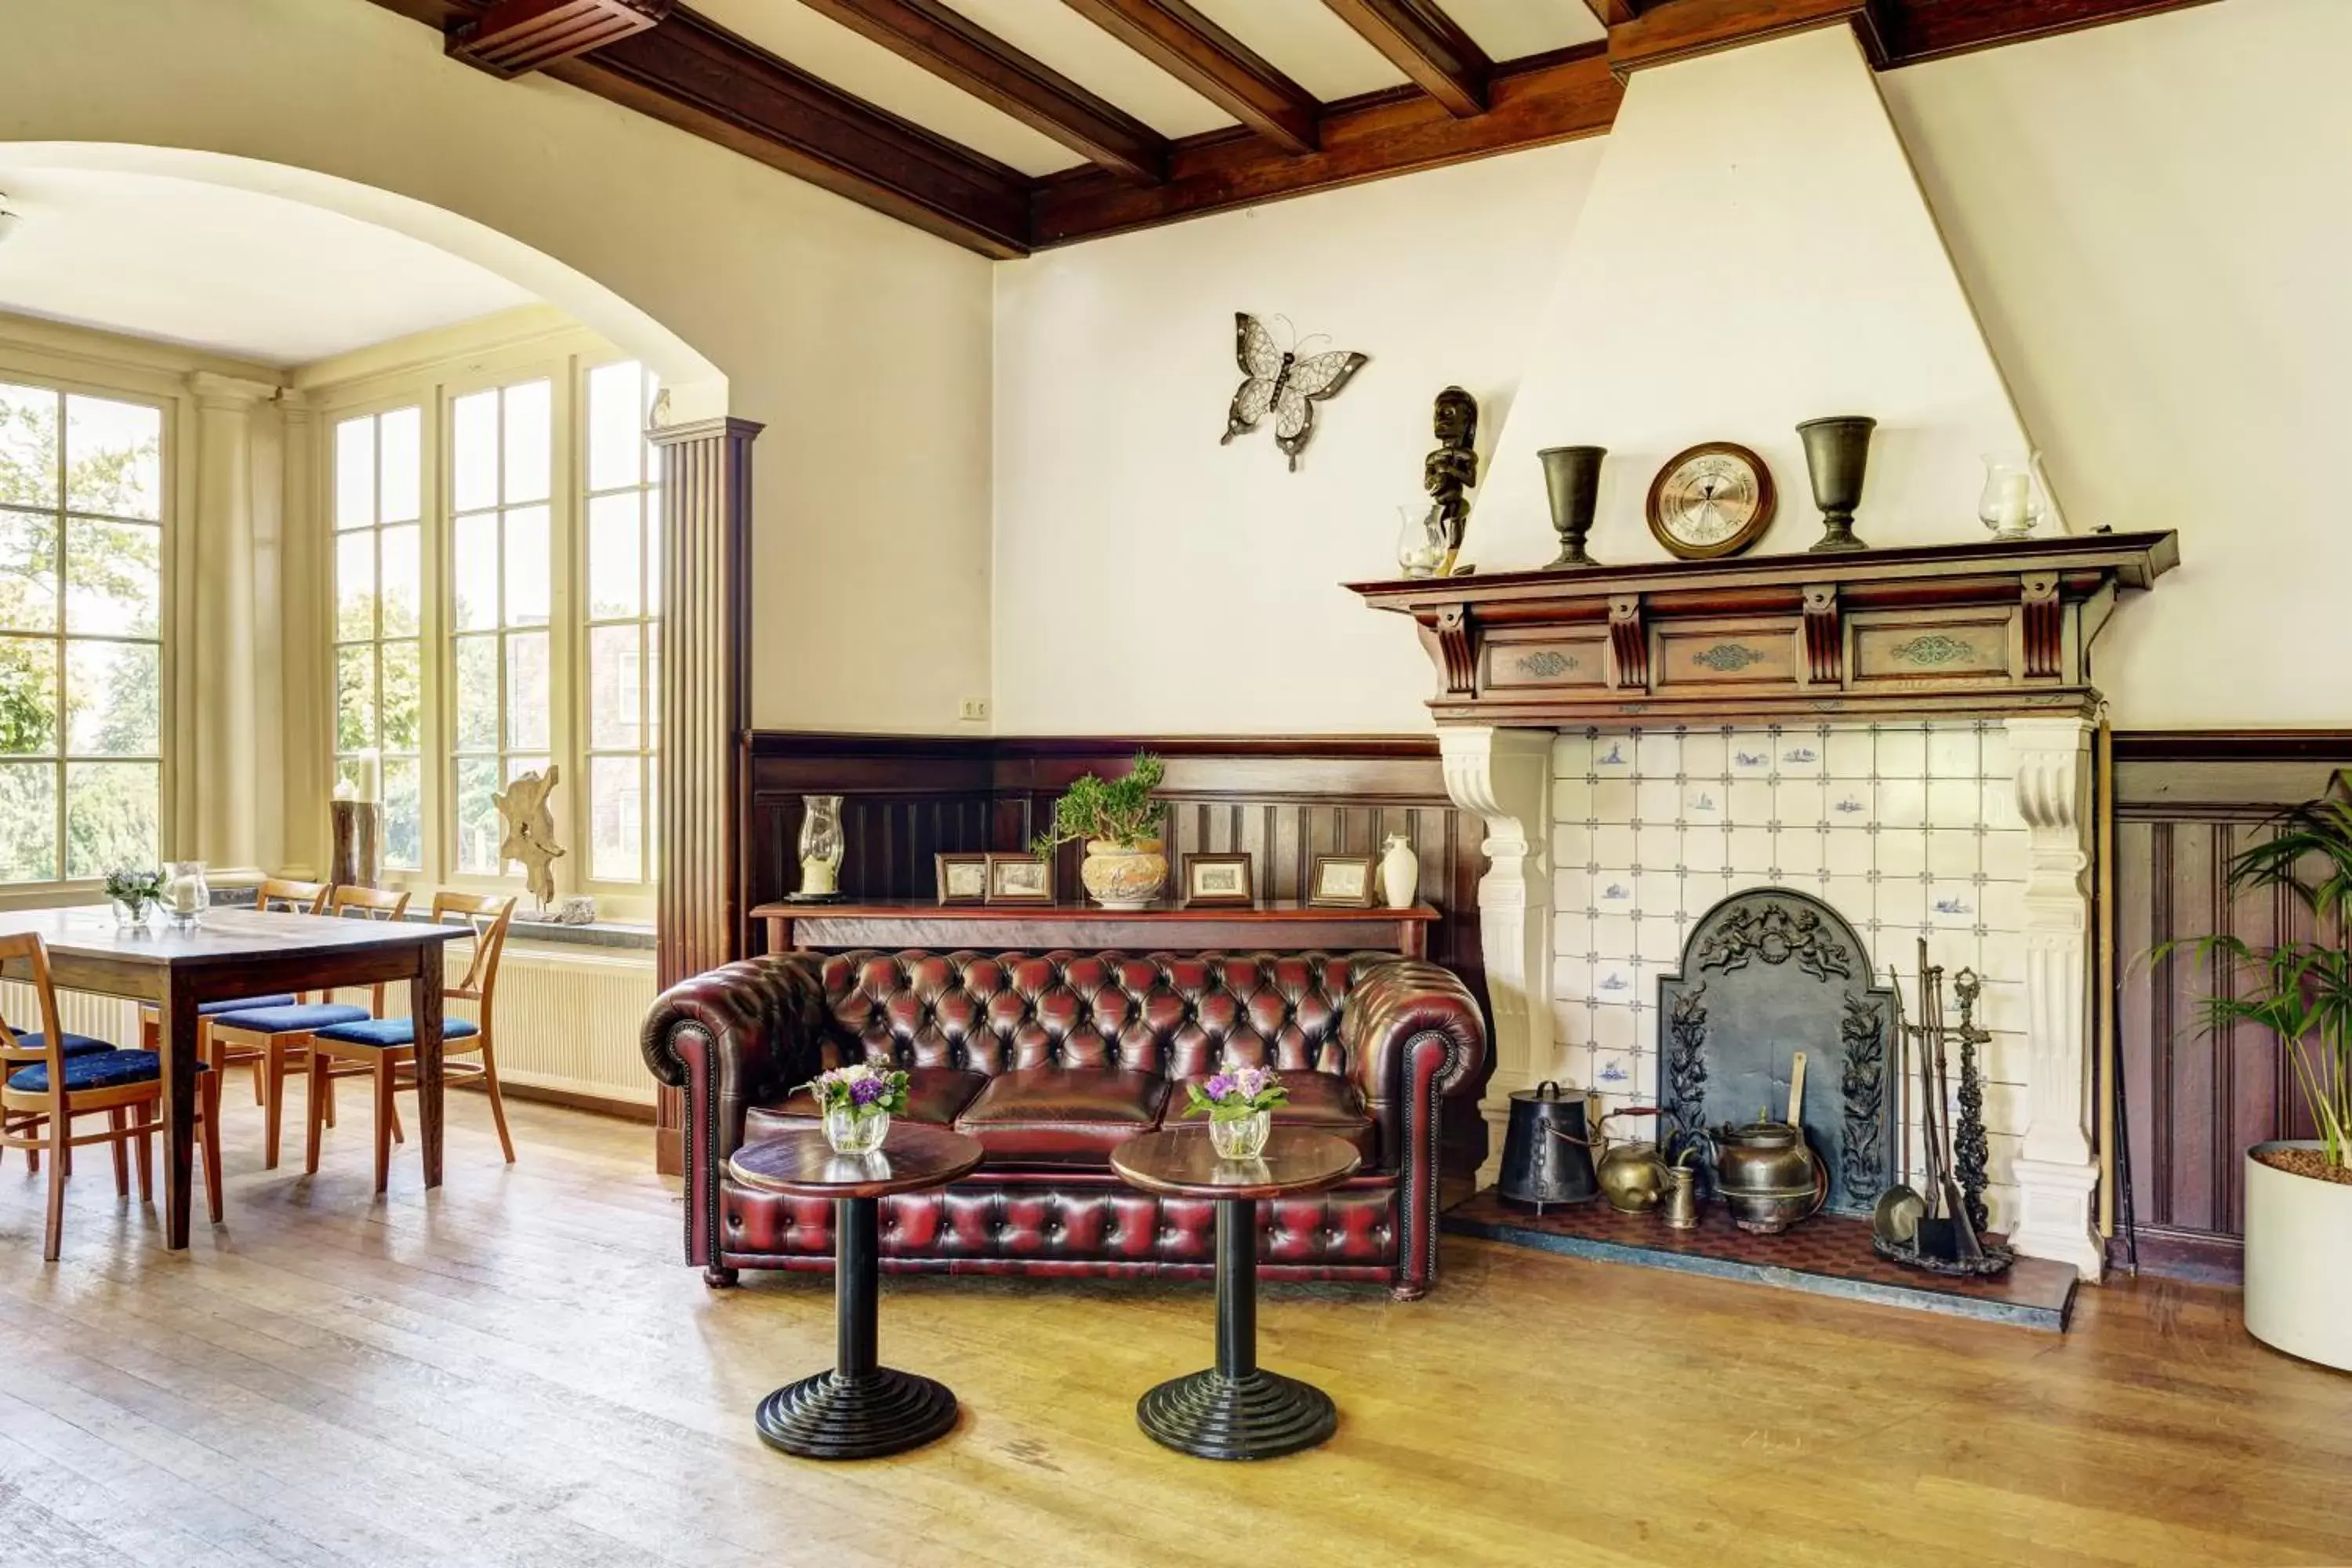
M1510 1091L1548 1077L1552 1060L1552 741L1548 729L1437 731L1446 795L1486 818L1477 917L1494 1009L1494 1077L1479 1103L1486 1117L1479 1185L1503 1164Z

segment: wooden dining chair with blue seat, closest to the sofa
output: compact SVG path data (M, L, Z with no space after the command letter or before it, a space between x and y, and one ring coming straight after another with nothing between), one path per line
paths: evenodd
M492 1041L492 1013L499 992L499 957L506 952L506 929L515 919L515 900L475 893L435 893L433 924L461 917L473 926L473 961L466 978L442 987L447 1001L473 1001L480 1018L442 1016L442 1079L482 1079L489 1093L489 1117L499 1126L506 1164L515 1164L515 1140L506 1131L506 1100L499 1093L499 1053ZM463 1060L477 1058L477 1060ZM303 1168L318 1173L318 1145L327 1084L336 1077L367 1077L376 1086L376 1192L383 1192L393 1164L393 1095L416 1088L416 1025L409 1018L369 1018L339 1023L310 1037L310 1138Z

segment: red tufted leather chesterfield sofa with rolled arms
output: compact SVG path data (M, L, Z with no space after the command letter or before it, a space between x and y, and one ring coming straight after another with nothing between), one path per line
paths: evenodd
M1437 1272L1437 1103L1486 1058L1470 992L1385 952L786 952L670 987L644 1060L684 1091L687 1260L830 1269L833 1206L739 1187L727 1159L814 1107L844 1060L908 1072L915 1121L988 1147L967 1180L882 1199L882 1267L1211 1276L1211 1204L1157 1199L1110 1150L1178 1124L1183 1079L1272 1063L1277 1121L1352 1138L1343 1187L1261 1204L1270 1279L1362 1279L1416 1298Z

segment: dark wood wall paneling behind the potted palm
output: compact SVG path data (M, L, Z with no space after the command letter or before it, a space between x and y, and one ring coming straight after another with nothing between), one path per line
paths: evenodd
M2253 1027L2209 1034L2204 966L2147 954L2216 931L2253 945L2307 938L2312 917L2293 898L2232 898L2225 872L2343 766L2352 731L2114 736L2117 1023L2143 1269L2234 1279L2246 1147L2312 1135L2277 1044ZM2122 1258L2122 1237L2112 1251Z

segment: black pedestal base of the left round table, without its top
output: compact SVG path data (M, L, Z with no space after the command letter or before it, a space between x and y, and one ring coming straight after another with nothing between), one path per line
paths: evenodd
M955 1429L948 1385L875 1361L875 1199L833 1201L833 1371L760 1401L760 1441L804 1460L877 1460Z

